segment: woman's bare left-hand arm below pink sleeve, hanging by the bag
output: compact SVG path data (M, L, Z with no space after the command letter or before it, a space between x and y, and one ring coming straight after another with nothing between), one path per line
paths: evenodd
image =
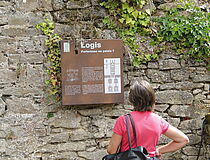
M111 138L111 140L109 142L109 145L107 147L107 152L109 154L116 153L116 151L118 149L118 146L120 145L121 140L122 140L122 136L120 136L116 133L113 133L112 138Z

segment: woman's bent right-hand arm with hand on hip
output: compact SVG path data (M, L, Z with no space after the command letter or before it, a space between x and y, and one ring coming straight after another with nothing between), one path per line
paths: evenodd
M157 148L157 153L159 153L159 155L174 152L189 143L189 138L182 131L171 125L164 135L172 139L172 141Z

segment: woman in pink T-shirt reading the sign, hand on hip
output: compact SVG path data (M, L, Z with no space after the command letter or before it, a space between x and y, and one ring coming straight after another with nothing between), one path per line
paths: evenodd
M134 107L134 111L130 114L135 123L138 146L145 147L150 157L160 157L164 153L176 151L189 143L188 137L183 132L153 113L155 93L148 82L136 81L130 88L129 101ZM117 119L113 132L107 152L109 154L116 153L119 145L121 152L128 150L128 138L123 115ZM169 137L172 141L156 148L161 134ZM131 139L134 139L132 131ZM137 147L134 141L132 141L132 147Z

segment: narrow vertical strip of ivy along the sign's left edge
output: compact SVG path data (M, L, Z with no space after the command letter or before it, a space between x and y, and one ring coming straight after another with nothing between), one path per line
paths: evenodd
M36 28L47 36L45 45L48 47L50 66L47 70L49 79L45 83L50 85L49 94L56 96L56 99L59 100L61 97L61 56L58 42L61 37L54 33L54 27L54 23L47 18L44 19L44 22L36 25Z

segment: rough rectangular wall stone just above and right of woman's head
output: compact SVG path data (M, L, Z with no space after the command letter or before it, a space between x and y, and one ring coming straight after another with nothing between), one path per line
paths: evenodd
M147 76L152 80L152 82L171 82L169 71L159 71L149 69Z

